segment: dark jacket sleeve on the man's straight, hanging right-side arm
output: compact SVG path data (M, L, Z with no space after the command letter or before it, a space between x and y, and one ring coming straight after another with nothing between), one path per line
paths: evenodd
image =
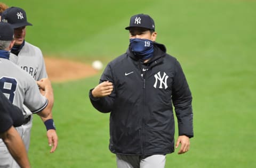
M194 137L192 96L180 63L175 63L172 101L178 120L179 136Z

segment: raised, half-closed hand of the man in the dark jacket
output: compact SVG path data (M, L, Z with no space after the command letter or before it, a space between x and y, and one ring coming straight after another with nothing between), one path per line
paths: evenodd
M93 97L105 97L111 94L113 91L113 83L109 81L105 81L100 83L92 90Z

